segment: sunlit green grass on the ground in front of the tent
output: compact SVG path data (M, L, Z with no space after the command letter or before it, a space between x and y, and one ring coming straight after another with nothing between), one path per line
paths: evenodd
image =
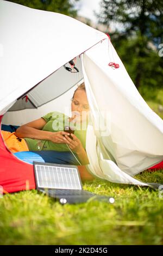
M136 175L163 183L162 170ZM60 205L37 191L0 199L1 245L161 245L163 194L148 187L95 179L84 189L115 198L114 204Z

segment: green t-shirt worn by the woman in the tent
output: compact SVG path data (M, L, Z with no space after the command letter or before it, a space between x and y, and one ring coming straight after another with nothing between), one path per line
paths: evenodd
M83 148L85 149L86 143L86 128L87 123L84 122L81 125L79 123L74 123L68 121L68 116L54 111L48 113L42 117L47 123L43 126L43 131L51 131L51 132L58 132L64 131L64 127L66 125L74 127L74 135L80 139L82 142ZM82 126L82 127L80 127ZM56 151L70 151L67 145L64 143L53 143L52 141L47 141L44 139L31 139L31 138L24 138L28 144L28 148L30 151L40 151L40 150L56 150ZM73 150L72 150L73 151Z

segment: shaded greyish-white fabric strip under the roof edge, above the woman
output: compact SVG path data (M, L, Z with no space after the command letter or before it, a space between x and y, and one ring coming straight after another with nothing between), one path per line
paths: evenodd
M45 80L40 82L38 86L34 87L28 94L28 100L26 96L21 97L9 111L17 111L27 108L37 108L46 104L49 101L61 96L70 88L74 87L77 83L83 80L82 61L77 57L75 60L75 67L79 72L68 72L62 66L55 71L52 75L48 76ZM66 67L70 67L66 64ZM48 87L47 87L48 86Z

